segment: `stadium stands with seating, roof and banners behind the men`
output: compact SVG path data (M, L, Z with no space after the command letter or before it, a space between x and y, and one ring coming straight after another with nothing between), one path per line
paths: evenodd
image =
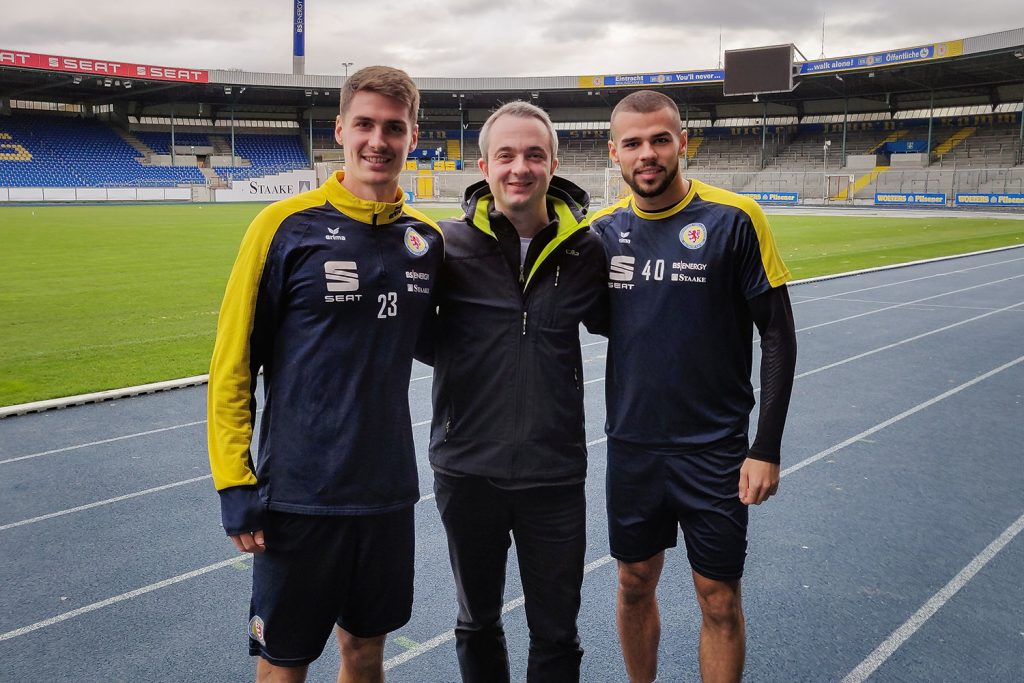
M559 173L607 201L622 190L607 154L608 115L630 89L655 87L680 103L689 130L685 172L729 189L863 204L878 202L879 193L939 191L947 205L958 193L1024 194L1024 28L850 63L858 59L854 68L804 62L799 88L761 93L760 101L725 96L722 82L690 73L679 74L679 83L669 73L623 81L427 79L419 154L403 186L418 200L457 201L479 178L477 137L487 113L523 99L552 115ZM191 185L193 201L209 201L231 179L311 164L324 177L343 167L333 129L340 77L196 73L208 81L119 83L0 63L8 92L36 98L0 98L0 201L34 197L5 194L5 186L154 184ZM195 155L182 154L185 145ZM453 170L459 161L462 170Z

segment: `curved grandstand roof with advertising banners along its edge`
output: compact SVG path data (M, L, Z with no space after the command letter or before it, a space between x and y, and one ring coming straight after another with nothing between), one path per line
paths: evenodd
M0 98L123 105L125 114L203 102L253 114L294 114L333 105L337 76L238 71L202 72L205 82L118 77L19 66L0 50ZM85 60L79 60L85 61ZM636 87L657 87L690 118L721 119L879 112L1024 100L1024 29L882 53L799 62L787 93L726 97L721 72L566 76L551 78L417 79L426 112L485 113L510 99L532 99L549 110L607 110ZM132 72L134 74L134 72ZM143 73L140 71L139 73ZM144 72L148 74L150 72ZM159 72L158 72L159 73ZM200 72L190 72L199 74ZM695 76L696 75L696 76ZM677 83L686 78L707 79ZM195 80L195 79L194 79ZM479 117L477 117L479 118Z

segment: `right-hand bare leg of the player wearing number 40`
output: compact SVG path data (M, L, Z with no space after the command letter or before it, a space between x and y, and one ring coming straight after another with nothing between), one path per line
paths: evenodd
M715 581L693 572L700 605L700 678L738 683L743 676L746 627L739 581Z

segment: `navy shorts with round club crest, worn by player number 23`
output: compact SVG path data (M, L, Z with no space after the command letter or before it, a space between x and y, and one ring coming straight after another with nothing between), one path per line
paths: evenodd
M280 667L321 655L334 625L359 638L413 611L413 507L366 516L271 511L253 560L249 653Z

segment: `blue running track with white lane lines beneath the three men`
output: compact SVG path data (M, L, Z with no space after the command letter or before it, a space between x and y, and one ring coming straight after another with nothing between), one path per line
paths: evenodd
M798 379L779 495L752 514L746 680L1024 680L1024 249L791 294ZM584 344L583 678L624 681L603 510L606 346ZM458 680L429 397L416 366L416 604L388 641L389 681ZM0 420L0 681L252 679L250 562L219 526L205 434L205 387ZM681 549L660 596L660 680L698 680ZM523 680L514 557L506 599ZM329 643L309 680L336 670Z

